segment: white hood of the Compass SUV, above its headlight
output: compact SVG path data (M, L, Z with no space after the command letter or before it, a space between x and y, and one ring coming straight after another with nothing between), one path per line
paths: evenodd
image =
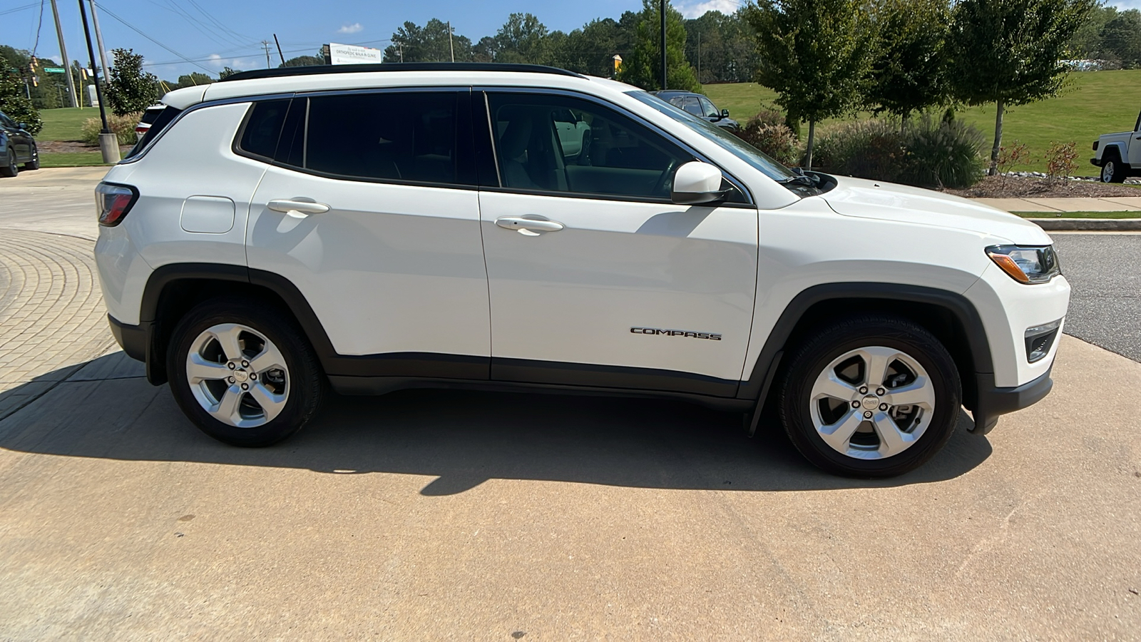
M843 216L954 227L1012 243L1053 242L1034 223L969 199L879 180L842 176L835 179L837 185L819 198Z

